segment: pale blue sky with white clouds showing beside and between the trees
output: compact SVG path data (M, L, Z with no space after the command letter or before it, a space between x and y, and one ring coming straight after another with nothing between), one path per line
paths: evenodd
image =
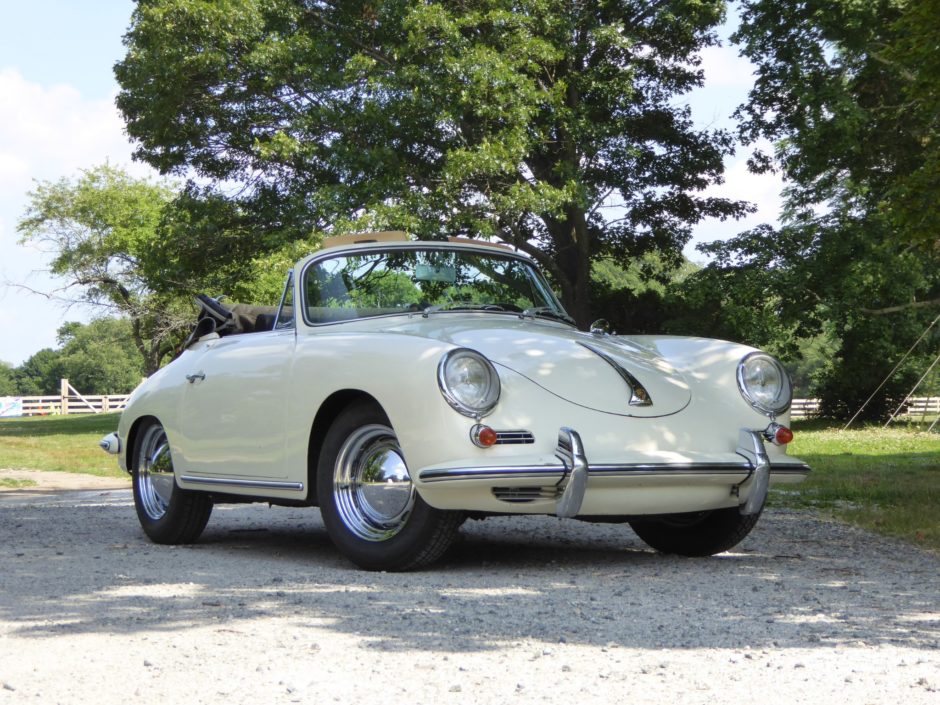
M62 286L48 275L48 253L20 245L16 223L37 181L75 178L105 162L134 176L155 176L131 159L132 146L114 107L112 67L124 55L122 36L131 0L0 0L0 361L12 365L56 347L66 321L95 312L32 293ZM725 34L729 29L726 28ZM689 96L702 127L733 126L731 113L747 95L751 69L733 47L703 54L706 87ZM725 184L707 195L743 198L757 206L746 219L706 221L686 256L701 261L694 244L775 222L780 183L747 172L746 153L726 162Z

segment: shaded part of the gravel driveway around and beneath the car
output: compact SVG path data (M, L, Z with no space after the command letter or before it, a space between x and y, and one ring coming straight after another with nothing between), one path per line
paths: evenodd
M940 647L940 560L806 513L765 516L707 559L653 553L625 526L471 521L439 563L395 574L353 568L312 509L217 507L199 543L157 546L125 495L0 507L8 632L250 631L278 619L379 651Z

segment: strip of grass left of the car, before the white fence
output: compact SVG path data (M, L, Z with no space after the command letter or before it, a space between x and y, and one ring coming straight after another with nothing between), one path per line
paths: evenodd
M59 470L127 477L113 455L98 447L117 429L120 414L0 419L0 468Z

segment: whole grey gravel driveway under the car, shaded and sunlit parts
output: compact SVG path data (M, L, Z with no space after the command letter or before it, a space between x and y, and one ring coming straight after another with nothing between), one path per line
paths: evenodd
M141 533L129 490L0 493L3 703L940 703L940 557L768 510L734 552L468 522L364 573L315 509Z

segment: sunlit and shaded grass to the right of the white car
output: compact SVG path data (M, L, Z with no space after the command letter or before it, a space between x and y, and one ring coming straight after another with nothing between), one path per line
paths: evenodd
M940 432L929 423L888 429L796 421L789 452L813 472L771 492L771 506L812 507L940 551Z

